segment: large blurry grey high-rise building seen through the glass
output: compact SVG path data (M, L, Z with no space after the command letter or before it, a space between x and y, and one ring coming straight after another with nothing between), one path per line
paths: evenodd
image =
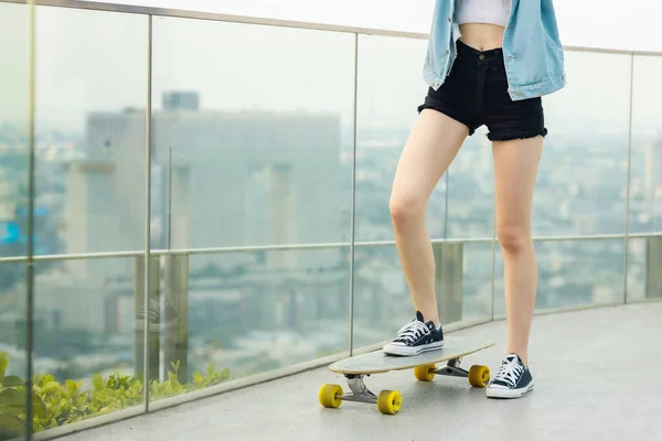
M167 230L163 247L342 240L340 116L196 111L196 98L174 96L163 100L179 105L152 116L152 165L164 176L152 182L152 218ZM139 110L88 116L88 159L70 166L66 223L75 227L66 228L67 252L142 248L145 119ZM275 266L319 268L339 256L274 251L265 258ZM232 267L247 257L196 256L190 268ZM75 265L84 272L93 263ZM94 272L109 277L109 269Z

